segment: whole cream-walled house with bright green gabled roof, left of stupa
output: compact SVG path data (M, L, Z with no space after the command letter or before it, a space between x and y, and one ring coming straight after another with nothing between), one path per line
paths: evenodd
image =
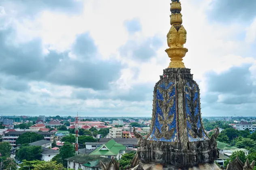
M115 142L111 139L106 144L102 144L100 147L95 149L90 155L97 155L100 157L107 157L111 159L114 157L117 160L120 160L122 155L125 153L126 147L122 144Z

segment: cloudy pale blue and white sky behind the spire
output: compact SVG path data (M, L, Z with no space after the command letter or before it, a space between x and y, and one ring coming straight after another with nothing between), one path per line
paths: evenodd
M256 1L180 0L202 116L256 115ZM0 114L150 117L171 0L1 0Z

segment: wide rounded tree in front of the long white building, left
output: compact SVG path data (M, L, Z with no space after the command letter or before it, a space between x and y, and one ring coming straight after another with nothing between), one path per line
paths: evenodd
M43 140L44 137L40 134L36 134L34 132L26 132L24 134L21 134L19 138L16 140L16 144L23 144L23 143L31 143L36 142L38 140Z

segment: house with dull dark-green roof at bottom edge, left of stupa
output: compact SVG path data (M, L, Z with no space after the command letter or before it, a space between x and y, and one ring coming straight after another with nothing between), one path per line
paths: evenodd
M79 168L82 170L102 170L100 162L107 164L111 161L111 159L106 157L81 153L76 156L66 158L65 160L68 161L68 168L73 168L75 170L78 170Z

